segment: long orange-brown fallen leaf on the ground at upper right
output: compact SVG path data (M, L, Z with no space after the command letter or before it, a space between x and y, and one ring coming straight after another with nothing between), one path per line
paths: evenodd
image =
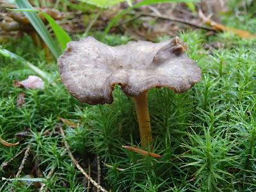
M201 17L205 23L210 24L216 31L232 31L233 33L236 33L236 35L239 35L246 39L247 38L256 38L256 34L252 34L249 31L235 29L235 28L228 28L227 26L219 24L218 22L214 22L213 20L209 19L209 17L205 17L202 10L199 10L198 13L199 13L199 17Z

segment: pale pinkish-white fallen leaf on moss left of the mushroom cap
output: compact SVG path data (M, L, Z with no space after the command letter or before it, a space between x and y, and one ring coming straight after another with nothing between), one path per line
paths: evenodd
M28 79L23 81L14 80L13 84L14 86L20 88L35 88L44 90L44 81L38 76L28 76Z

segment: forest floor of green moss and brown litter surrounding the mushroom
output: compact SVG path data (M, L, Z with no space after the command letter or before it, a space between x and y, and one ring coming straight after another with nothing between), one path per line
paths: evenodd
M72 40L93 36L114 46L179 36L202 79L181 94L149 90L152 153L161 157L143 155L122 147L140 148L140 134L132 98L120 86L113 104L81 103L63 86L47 49L21 29L0 31L0 191L256 190L255 2L140 6L107 35L127 3L100 9L56 2L34 6L59 10L57 22ZM11 12L2 8L1 20ZM22 88L24 79L38 76L28 62L49 78Z

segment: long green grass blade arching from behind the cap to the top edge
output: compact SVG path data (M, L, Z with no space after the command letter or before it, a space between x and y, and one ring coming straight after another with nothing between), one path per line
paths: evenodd
M104 35L102 36L102 40L104 40L105 36L108 34L109 29L120 19L120 17L122 17L122 15L124 15L124 13L129 12L129 10L132 10L134 8L138 8L140 6L143 5L147 5L147 4L154 4L154 3L163 3L163 2L196 2L198 0L145 0L145 1L141 1L140 3L134 4L134 6L131 6L129 8L127 8L126 10L120 12L118 15L116 15L115 18L113 18L107 28L104 31Z

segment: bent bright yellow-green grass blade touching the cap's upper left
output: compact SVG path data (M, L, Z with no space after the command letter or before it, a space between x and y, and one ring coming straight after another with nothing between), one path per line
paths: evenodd
M10 9L12 10L12 9ZM72 41L72 39L70 38L70 36L61 28L61 26L59 26L56 21L54 19L52 19L52 17L50 15L48 15L47 13L38 11L38 10L31 10L31 9L15 9L13 11L22 11L22 12L39 12L42 13L42 15L44 15L45 19L48 20L49 24L52 27L52 30L54 31L54 34L56 35L56 37L58 38L61 48L64 51L64 49L66 49L67 47L67 43Z

